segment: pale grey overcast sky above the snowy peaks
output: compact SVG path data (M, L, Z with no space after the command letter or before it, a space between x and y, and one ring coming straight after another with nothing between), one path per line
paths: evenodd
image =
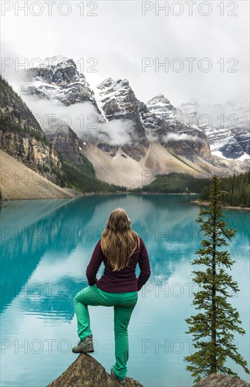
M159 93L174 106L194 99L220 103L249 96L249 1L192 1L192 15L190 1L175 1L175 6L159 1L159 6L169 6L169 15L157 15L154 1L78 0L67 6L58 0L52 15L43 1L28 1L25 15L18 10L24 3L2 1L1 6L1 73L13 86L18 70L14 65L4 68L5 58L18 63L27 58L30 67L33 58L62 55L73 58L79 69L83 63L92 87L107 77L127 78L144 102ZM4 15L3 7L13 8ZM41 15L32 15L39 11ZM157 69L157 58L160 63L168 60L169 67ZM185 58L196 58L191 72ZM202 71L208 65L211 70ZM183 70L177 72L180 66Z

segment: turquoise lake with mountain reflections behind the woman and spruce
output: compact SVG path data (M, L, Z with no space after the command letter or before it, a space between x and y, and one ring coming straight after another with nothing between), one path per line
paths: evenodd
M69 200L4 203L1 213L1 386L41 387L76 359L79 341L74 295L87 286L86 266L110 212L124 208L150 257L152 274L138 293L129 324L129 372L146 387L192 386L183 358L195 351L185 318L197 313L192 283L202 234L195 222L195 195L96 195ZM244 336L235 334L239 353L249 356L250 212L223 209L235 227L230 256ZM137 273L139 269L137 269ZM100 267L98 278L103 272ZM95 353L110 372L114 364L113 308L89 307ZM227 364L244 380L249 375Z

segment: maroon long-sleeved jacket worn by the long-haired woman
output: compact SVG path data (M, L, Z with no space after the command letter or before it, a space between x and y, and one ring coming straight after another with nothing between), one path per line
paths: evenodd
M105 270L103 276L98 280L96 278L96 273L102 262L104 262ZM140 267L140 275L138 278L136 278L137 263ZM86 269L88 285L96 284L98 288L110 293L139 291L147 282L147 279L150 278L150 274L150 261L148 259L145 244L141 238L139 251L131 255L129 266L124 267L124 269L112 272L112 267L100 247L100 241L98 241L93 250L91 260Z

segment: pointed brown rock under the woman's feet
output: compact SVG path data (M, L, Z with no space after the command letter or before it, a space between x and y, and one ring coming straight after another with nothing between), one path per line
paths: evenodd
M103 366L91 355L81 353L70 367L47 387L119 387L121 383L107 374ZM125 378L125 387L143 387L138 381Z

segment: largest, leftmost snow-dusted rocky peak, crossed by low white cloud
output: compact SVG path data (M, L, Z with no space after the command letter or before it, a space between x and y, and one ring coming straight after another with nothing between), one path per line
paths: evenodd
M77 70L77 65L72 59L61 55L45 58L40 67L22 70L20 78L22 80L20 84L22 96L32 96L39 100L46 99L62 106L88 102L95 108L98 118L96 121L104 121L93 90L84 74ZM81 113L80 110L79 115ZM49 126L46 125L48 122ZM83 163L79 138L67 125L67 122L60 120L59 125L57 118L44 120L43 130L48 141L60 151L63 157L77 164Z

